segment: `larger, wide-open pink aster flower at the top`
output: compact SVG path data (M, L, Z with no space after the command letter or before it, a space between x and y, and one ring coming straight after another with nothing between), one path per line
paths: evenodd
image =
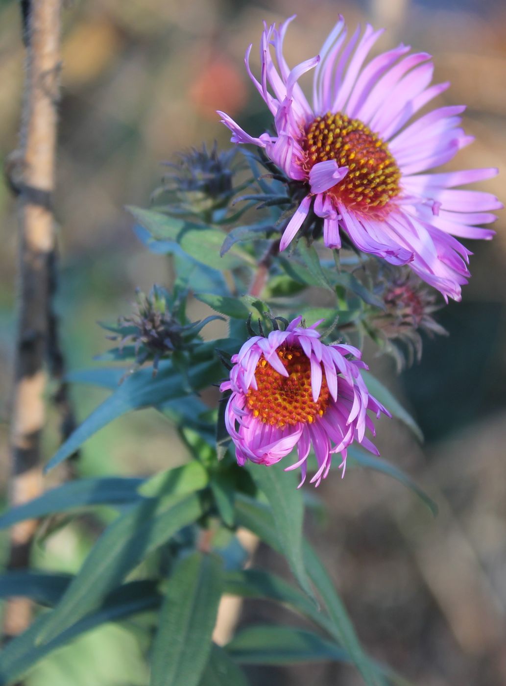
M459 127L465 108L441 107L408 124L449 84L429 85L431 56L407 56L409 46L402 44L364 67L382 31L367 25L360 35L358 27L347 40L342 17L320 55L289 69L282 44L291 19L279 27L264 25L260 81L250 69L251 45L245 56L276 134L252 137L219 112L232 142L263 147L287 178L307 190L280 249L293 240L312 206L324 220L328 248L341 247L344 230L359 250L394 265L409 264L446 300L460 300L471 253L455 236L492 238L494 231L477 225L493 222L490 211L502 206L490 193L455 189L495 176L496 169L429 173L471 143ZM311 69L312 104L298 84Z

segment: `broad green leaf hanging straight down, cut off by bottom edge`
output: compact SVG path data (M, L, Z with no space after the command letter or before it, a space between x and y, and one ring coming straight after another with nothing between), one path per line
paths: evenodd
M195 552L167 584L152 653L150 686L198 686L221 598L221 560Z

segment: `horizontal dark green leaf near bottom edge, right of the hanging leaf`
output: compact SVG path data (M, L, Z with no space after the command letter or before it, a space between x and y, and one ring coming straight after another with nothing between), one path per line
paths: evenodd
M228 643L226 651L234 660L246 665L350 661L346 650L311 631L270 624L243 629Z

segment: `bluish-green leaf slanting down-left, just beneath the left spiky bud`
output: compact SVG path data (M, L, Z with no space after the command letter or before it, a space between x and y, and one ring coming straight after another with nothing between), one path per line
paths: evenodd
M194 364L189 369L188 377L191 387L200 390L210 383L218 381L223 375L221 364L208 360ZM170 362L160 364L160 371L153 377L152 370L140 369L128 377L116 390L97 407L84 422L67 438L56 455L49 460L45 469L53 469L63 460L69 458L93 434L112 420L138 410L141 407L160 407L188 394L187 382L174 370Z

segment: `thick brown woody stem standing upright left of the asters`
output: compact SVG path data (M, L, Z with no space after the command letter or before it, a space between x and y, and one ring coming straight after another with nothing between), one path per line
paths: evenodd
M21 3L27 47L19 151L6 169L19 194L19 313L14 360L10 501L19 505L42 490L40 436L45 421L49 284L54 250L51 198L54 187L57 102L60 72L60 0ZM35 521L12 528L10 569L26 567ZM10 600L4 634L29 624L31 604Z

